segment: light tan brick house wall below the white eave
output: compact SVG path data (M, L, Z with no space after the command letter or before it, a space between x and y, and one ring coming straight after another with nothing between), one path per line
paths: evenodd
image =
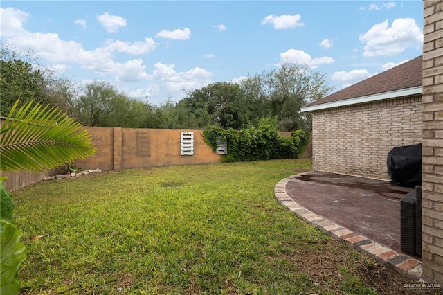
M422 97L314 111L312 135L318 170L390 180L392 147L422 142Z

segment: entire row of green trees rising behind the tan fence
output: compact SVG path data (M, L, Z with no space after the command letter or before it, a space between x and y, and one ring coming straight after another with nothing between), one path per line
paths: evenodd
M239 84L215 82L161 105L130 98L106 81L77 87L66 78L42 70L30 55L1 47L0 113L17 98L55 106L88 126L205 129L257 127L261 120L278 121L278 130L311 129L310 114L300 109L332 89L325 75L305 66L281 65L248 75Z

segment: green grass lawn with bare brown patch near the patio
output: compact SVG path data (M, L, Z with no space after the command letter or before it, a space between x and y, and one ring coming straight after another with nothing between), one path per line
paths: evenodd
M21 189L21 294L401 294L408 278L278 204L275 184L307 170L217 163Z

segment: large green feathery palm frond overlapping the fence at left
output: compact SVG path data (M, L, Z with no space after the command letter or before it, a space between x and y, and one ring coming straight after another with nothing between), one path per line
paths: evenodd
M64 112L18 102L0 127L1 171L53 169L96 153L87 129Z

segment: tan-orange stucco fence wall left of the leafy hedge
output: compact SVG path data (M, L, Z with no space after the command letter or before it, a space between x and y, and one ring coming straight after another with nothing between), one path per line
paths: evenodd
M219 155L204 143L201 130L86 127L97 147L94 156L75 161L82 169L120 170L154 166L217 163ZM181 155L181 132L192 134L192 155ZM1 155L0 155L1 168ZM14 191L41 181L53 171L4 173L7 190Z

